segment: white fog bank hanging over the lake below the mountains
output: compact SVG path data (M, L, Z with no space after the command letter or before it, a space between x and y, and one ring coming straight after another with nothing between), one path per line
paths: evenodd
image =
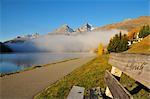
M7 44L16 52L87 52L98 47L99 43L107 45L111 37L120 30L88 32L78 35L43 35L24 43ZM122 33L127 33L121 30Z

